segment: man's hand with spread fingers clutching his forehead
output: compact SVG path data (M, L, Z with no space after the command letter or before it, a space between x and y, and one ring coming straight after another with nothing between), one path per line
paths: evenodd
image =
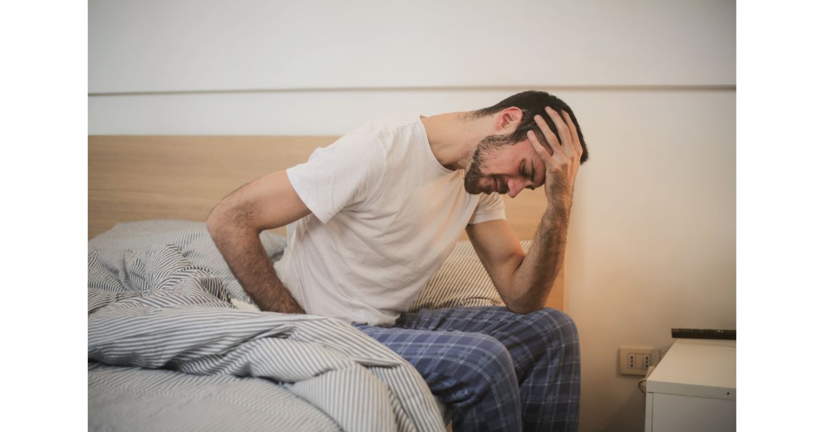
M535 132L527 132L527 138L546 166L544 192L547 200L550 205L560 206L569 211L569 207L572 206L575 176L578 175L578 168L581 166L583 146L578 139L578 129L575 128L572 118L569 118L566 111L561 113L564 115L563 118L554 109L546 107L546 114L549 114L555 123L561 142L558 142L555 133L540 115L535 116L535 123L549 142L549 150L541 145Z

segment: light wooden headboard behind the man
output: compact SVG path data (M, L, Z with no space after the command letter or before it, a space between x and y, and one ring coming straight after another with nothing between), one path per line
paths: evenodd
M206 221L236 188L306 161L332 136L104 136L89 137L89 232L145 219ZM543 189L504 197L519 239L531 239L545 210ZM285 228L274 230L285 235ZM466 239L466 234L464 235ZM564 272L548 306L564 309Z

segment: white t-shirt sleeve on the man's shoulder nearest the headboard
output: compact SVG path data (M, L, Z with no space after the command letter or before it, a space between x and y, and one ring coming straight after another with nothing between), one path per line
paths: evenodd
M297 196L326 223L345 207L365 202L385 169L386 151L376 137L350 132L286 174Z

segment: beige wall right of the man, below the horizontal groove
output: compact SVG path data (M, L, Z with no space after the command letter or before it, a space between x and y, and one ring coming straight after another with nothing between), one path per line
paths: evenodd
M666 347L672 327L736 327L735 92L571 98L592 146L567 251L581 430L642 430L640 377L618 374L618 347Z

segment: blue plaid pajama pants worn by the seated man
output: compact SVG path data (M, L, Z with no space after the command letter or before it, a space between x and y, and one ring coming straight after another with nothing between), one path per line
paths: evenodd
M578 430L578 328L557 309L423 309L356 325L405 358L464 430Z

